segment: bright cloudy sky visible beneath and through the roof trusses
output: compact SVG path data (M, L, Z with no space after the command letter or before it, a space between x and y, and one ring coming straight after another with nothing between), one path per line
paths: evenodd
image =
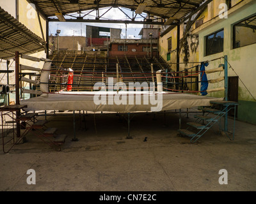
M100 10L100 15L106 12L108 8ZM130 10L122 8L127 14L131 14ZM85 12L87 13L87 11ZM76 14L77 15L77 14ZM132 15L131 15L132 16ZM67 17L72 18L72 17ZM84 19L95 19L95 11L86 15ZM118 8L111 8L105 15L103 20L130 20ZM143 20L143 18L136 18L136 20ZM111 27L122 29L121 38L125 38L125 24L107 24L107 23L81 23L81 22L49 22L49 34L56 34L56 30L60 29L60 36L86 36L86 25L94 25L99 27ZM139 33L143 24L127 24L127 38L140 38Z

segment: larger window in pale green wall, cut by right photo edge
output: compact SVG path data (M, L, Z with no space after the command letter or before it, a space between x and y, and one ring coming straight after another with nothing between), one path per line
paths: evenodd
M256 43L256 16L233 25L233 48Z

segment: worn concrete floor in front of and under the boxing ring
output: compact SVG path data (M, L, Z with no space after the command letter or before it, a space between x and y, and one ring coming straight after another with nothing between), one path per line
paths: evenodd
M33 132L8 154L1 150L0 191L256 190L255 125L237 121L234 141L216 125L190 143L177 135L177 113L167 113L165 121L163 113L133 115L132 139L126 139L127 122L116 114L95 114L96 128L93 115L85 116L87 131L77 116L77 142L72 114L47 117L48 127L68 135L62 150L51 149ZM193 120L193 113L189 119L182 113L182 128ZM36 172L35 185L26 182L29 169ZM228 184L219 183L221 169L228 172Z

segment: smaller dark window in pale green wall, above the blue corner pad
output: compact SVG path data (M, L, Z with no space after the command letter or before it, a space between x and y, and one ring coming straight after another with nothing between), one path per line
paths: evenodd
M224 30L205 36L205 55L212 55L223 52Z

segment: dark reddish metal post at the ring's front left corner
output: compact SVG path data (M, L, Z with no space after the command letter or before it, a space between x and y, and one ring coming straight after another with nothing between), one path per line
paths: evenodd
M15 52L15 97L16 105L20 105L20 82L19 82L19 52ZM16 119L20 117L20 110L16 112ZM20 137L20 121L16 120L17 138Z

